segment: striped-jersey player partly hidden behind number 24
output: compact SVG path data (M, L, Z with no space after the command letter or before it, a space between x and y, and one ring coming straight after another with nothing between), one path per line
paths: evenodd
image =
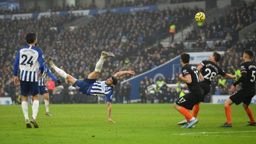
M39 66L37 67L37 70L38 70L38 73L40 73L40 67ZM58 83L58 85L61 84L61 81L60 81L60 79L57 79L57 78L55 78L55 76L52 75L51 70L47 66L44 67L44 72L42 74L42 77L39 78L39 81L38 81L40 95L43 95L44 99L45 99L44 100L44 105L45 105L45 110L46 110L45 115L52 116L49 112L49 105L50 105L49 91L46 87L47 74L49 74L50 78L52 78L53 81L56 81ZM32 97L31 104L33 104L33 101L34 101L34 99Z

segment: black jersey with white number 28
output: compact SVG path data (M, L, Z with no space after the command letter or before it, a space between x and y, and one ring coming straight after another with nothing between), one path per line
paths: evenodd
M217 74L225 76L227 73L222 70L216 63L208 60L203 60L199 65L202 65L201 74L204 77L203 83L211 84Z

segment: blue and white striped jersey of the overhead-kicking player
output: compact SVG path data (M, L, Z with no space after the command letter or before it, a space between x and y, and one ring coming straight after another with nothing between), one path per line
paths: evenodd
M107 102L112 102L113 94L113 87L107 86L105 84L105 81L99 81L97 80L95 83L93 83L87 92L87 95L95 95L95 96L106 96L107 97Z

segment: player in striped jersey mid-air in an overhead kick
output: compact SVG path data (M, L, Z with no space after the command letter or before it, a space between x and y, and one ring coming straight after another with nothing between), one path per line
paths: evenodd
M113 53L109 53L109 52L101 52L101 56L99 61L96 63L95 66L95 70L90 73L83 81L79 81L75 78L73 78L72 76L70 76L69 74L66 74L65 71L61 70L60 68L57 68L57 66L55 66L53 64L52 58L49 57L48 61L50 66L58 73L60 74L60 76L62 76L63 78L67 79L68 81L70 81L71 84L73 84L73 87L76 87L76 89L86 95L95 95L95 96L105 96L107 97L107 112L108 112L108 120L111 121L112 123L115 123L115 121L113 121L110 118L111 115L111 98L112 98L112 94L113 94L113 87L115 84L117 84L117 78L124 75L124 74L131 74L131 75L135 75L134 71L120 71L116 74L114 74L111 78L107 79L106 81L99 81L97 80L99 74L100 74L100 70L103 66L104 60L105 58L108 57L115 57L115 55Z

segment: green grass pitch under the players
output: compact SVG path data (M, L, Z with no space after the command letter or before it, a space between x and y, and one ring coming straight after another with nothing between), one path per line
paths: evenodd
M256 105L250 107L255 116ZM50 105L51 117L40 105L39 128L27 129L21 105L0 105L0 144L256 144L256 126L245 126L249 118L242 105L231 108L233 128L220 128L223 105L201 104L195 128L184 129L172 104L113 104L116 124L107 120L105 104Z

